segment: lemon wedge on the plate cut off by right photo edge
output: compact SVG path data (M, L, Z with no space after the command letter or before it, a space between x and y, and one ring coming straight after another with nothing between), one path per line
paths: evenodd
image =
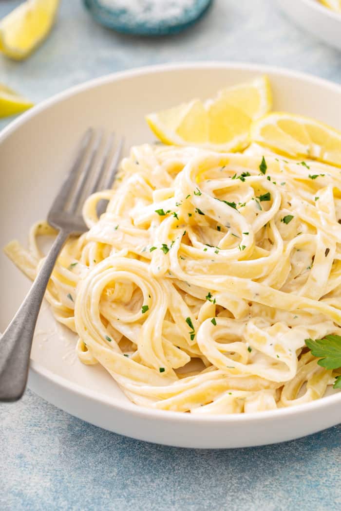
M341 132L302 115L282 112L265 115L253 123L251 138L288 156L341 167Z

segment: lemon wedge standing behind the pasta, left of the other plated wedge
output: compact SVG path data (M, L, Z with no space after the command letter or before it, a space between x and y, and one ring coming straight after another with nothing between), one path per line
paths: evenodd
M222 89L216 98L194 99L147 115L155 135L165 144L192 145L216 151L238 151L249 144L252 120L271 107L267 77Z

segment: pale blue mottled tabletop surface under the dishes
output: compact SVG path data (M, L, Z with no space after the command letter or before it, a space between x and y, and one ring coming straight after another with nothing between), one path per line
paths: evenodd
M0 17L17 3L1 2ZM64 0L51 36L30 59L0 57L0 82L40 101L125 68L210 59L341 82L341 53L292 26L274 0L215 0L197 25L156 40L106 30L80 0ZM176 449L88 425L27 391L0 407L0 509L330 511L341 508L340 456L341 426L277 446Z

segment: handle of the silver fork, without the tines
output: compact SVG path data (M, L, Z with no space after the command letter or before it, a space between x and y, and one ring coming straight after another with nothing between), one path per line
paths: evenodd
M58 233L30 291L0 338L0 401L17 401L25 391L34 329L60 250L70 233Z

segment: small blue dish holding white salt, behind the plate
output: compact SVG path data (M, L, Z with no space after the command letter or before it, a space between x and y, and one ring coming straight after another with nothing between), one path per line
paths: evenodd
M153 0L154 2L157 0ZM124 34L159 36L175 34L193 25L208 10L213 0L193 0L181 16L162 20L135 19L129 8L112 9L99 0L83 0L85 7L100 24Z

